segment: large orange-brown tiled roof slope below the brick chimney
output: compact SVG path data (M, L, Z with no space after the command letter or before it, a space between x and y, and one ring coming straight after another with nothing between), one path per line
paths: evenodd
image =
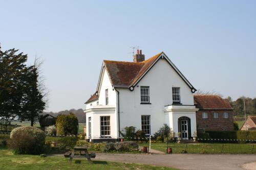
M112 85L127 88L135 83L161 54L159 53L143 62L109 60L104 60L103 62Z

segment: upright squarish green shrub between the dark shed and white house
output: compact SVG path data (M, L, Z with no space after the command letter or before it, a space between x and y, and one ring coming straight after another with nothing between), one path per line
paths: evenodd
M60 114L56 119L57 135L77 135L78 119L74 113Z

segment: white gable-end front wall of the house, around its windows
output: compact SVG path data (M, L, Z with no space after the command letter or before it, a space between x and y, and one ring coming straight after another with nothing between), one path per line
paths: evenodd
M126 126L134 126L137 130L141 129L141 115L151 115L151 135L158 131L164 123L168 122L166 118L172 118L172 115L165 115L163 111L164 106L173 103L172 87L180 87L181 103L183 105L194 105L193 93L190 88L164 59L160 59L137 86L133 91L118 89L120 91L121 129ZM140 86L150 86L151 104L140 104ZM194 123L196 124L196 122ZM176 126L174 122L173 126Z

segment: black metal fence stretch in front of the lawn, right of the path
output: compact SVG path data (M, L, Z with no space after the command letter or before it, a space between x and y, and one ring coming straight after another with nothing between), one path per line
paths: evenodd
M168 140L166 153L256 154L256 140L197 139Z

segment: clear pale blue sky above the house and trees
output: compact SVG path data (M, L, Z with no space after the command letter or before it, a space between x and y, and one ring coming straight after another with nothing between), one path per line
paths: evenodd
M48 111L84 108L103 59L164 52L201 90L256 97L256 1L2 1L2 50L43 59Z

